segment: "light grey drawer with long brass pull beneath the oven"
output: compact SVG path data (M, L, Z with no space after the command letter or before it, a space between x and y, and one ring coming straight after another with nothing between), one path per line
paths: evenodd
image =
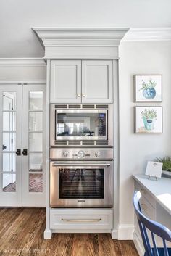
M50 228L111 229L112 210L50 210Z

